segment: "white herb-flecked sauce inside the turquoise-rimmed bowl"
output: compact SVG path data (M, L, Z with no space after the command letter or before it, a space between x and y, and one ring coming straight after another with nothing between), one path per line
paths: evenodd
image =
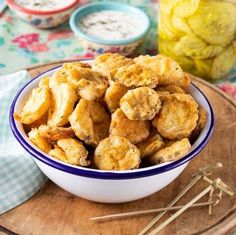
M133 38L141 33L140 21L121 11L103 10L86 15L78 22L81 31L105 40Z

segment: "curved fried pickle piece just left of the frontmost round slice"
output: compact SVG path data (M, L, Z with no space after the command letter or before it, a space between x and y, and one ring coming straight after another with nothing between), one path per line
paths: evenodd
M88 166L88 151L83 144L73 138L65 138L57 141L57 145L65 152L70 164L77 166Z

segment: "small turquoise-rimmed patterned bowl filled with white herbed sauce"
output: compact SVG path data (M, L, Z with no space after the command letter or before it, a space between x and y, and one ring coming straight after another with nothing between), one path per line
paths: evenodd
M77 9L70 17L70 27L88 53L130 55L144 40L150 19L136 7L100 2Z

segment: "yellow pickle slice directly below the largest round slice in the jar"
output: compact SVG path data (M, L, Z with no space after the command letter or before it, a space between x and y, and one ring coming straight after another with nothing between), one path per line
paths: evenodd
M177 55L186 55L198 59L212 58L223 51L220 45L208 45L194 35L186 35L180 39L174 48Z

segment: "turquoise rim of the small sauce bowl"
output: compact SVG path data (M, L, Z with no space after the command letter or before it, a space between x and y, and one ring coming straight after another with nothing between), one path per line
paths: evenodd
M99 39L99 38L96 38L96 37L89 36L88 34L84 33L83 31L81 31L78 28L78 26L77 26L77 23L78 23L77 15L81 14L81 12L83 12L83 11L87 11L91 7L102 7L102 6L104 6L106 8L107 8L107 6L109 6L109 7L111 7L110 10L117 10L117 8L118 9L119 8L123 8L123 9L126 8L127 10L129 10L129 11L131 11L131 12L137 14L137 15L142 15L142 17L144 17L145 20L146 20L146 27L144 27L143 31L140 34L138 34L137 36L131 37L131 38L125 39L125 40L113 40L113 41L111 41L111 40L104 40L104 39ZM117 11L121 11L121 10L117 10ZM95 12L95 11L92 11L92 12ZM102 44L102 45L125 45L125 44L130 44L130 43L136 42L138 40L141 40L142 38L144 38L144 36L149 31L150 25L151 25L150 18L148 17L148 15L144 11L142 11L141 9L139 9L137 7L133 7L133 6L130 6L130 5L125 4L125 3L117 3L117 2L100 2L100 3L87 4L83 7L80 7L75 12L73 12L73 14L70 17L70 27L71 27L71 29L73 30L73 32L76 36L81 37L83 39L86 39L88 41L97 43L97 44Z

